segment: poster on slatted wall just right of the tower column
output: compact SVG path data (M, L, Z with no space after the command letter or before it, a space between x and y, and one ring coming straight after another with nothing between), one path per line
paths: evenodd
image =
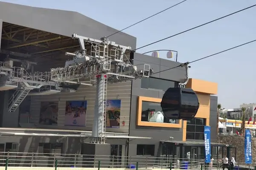
M106 127L119 128L121 100L107 100Z

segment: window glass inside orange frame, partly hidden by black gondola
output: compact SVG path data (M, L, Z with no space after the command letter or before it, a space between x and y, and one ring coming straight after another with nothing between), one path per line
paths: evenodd
M179 120L167 118L160 103L142 102L141 121L159 123L179 123Z

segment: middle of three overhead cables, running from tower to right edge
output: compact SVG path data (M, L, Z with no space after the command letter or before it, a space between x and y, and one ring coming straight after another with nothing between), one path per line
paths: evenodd
M213 22L215 22L215 21L221 20L221 19L223 19L223 18L225 18L225 17L229 17L229 16L231 16L231 15L233 15L233 14L237 14L237 13L239 13L239 12L241 12L241 11L245 11L245 10L247 10L247 9L249 9L249 8L252 8L252 7L255 7L255 6L256 6L256 4L253 5L253 6L249 6L249 7L247 7L247 8L243 8L243 9L241 9L241 10L239 10L239 11L236 11L236 12L233 12L233 13L231 13L231 14L227 14L227 15L225 15L225 16L223 16L223 17L217 18L217 19L212 20L212 21L209 21L209 22L207 22L207 23L201 24L201 25L199 25L199 26L195 26L195 27L193 27L193 28L187 29L186 31L182 31L182 32L180 32L180 33L177 33L177 34L174 34L174 35L172 35L172 36L163 38L163 39L161 39L161 40L158 40L158 41L155 41L155 42L151 42L151 43L148 44L148 45L144 45L144 46L142 46L142 47L136 48L136 49L131 50L131 51L135 52L135 51L138 50L138 49L144 48L144 47L146 47L146 46L155 44L155 43L160 42L160 41L163 41L163 40L167 40L167 39L172 38L172 37L175 37L175 36L177 36L177 35L179 35L179 34L183 34L183 33L185 33L185 32L191 31L191 30L193 30L193 29L195 29L195 28L199 28L199 27L201 27L201 26L205 26L205 25L207 25L207 24L209 24L209 23L213 23ZM128 54L128 53L130 53L131 51L125 52L125 53L123 53L123 54ZM123 55L123 54L120 54L120 55L118 55L118 56L116 56L116 57L119 57L119 56L121 56L121 55ZM99 62L99 63L108 61L108 60L113 59L113 58L115 58L115 57L111 57L111 58L106 59L106 60L103 60L103 61L101 61L101 62Z

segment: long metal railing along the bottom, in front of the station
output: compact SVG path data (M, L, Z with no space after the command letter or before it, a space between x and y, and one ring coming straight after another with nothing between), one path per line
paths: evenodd
M144 168L196 169L202 159L177 159L167 156L104 156L81 154L0 152L0 167L89 167L89 168Z

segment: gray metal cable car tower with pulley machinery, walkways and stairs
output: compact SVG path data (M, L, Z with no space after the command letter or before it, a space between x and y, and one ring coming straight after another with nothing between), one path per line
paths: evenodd
M13 34L5 33L5 36L13 38ZM2 87L4 85L8 90L16 89L8 103L9 111L13 112L34 89L61 92L64 90L63 87L60 87L61 83L95 85L97 95L91 142L105 143L107 84L149 77L153 70L147 64L133 65L133 60L125 55L126 52L131 51L131 47L118 45L108 41L106 37L96 40L75 33L72 35L72 39L79 41L81 49L74 53L66 52L66 55L72 56L73 59L66 61L63 68L52 68L49 72L28 73L24 67L14 67L11 60L0 62L0 88L1 85ZM42 38L41 42L43 41L47 42ZM33 45L32 41L26 43ZM9 45L8 48L17 48L23 45L23 42L17 42Z

